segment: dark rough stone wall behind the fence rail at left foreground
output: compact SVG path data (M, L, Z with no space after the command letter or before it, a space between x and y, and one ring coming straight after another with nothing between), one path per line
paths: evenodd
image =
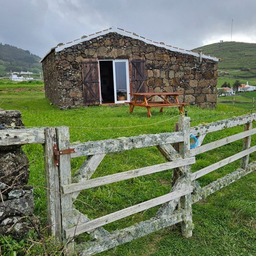
M24 126L20 111L0 109L0 124ZM8 134L8 129L4 130ZM33 190L26 186L29 178L28 159L21 146L0 147L0 235L24 238L31 229L25 215L34 211ZM17 210L15 210L17 209Z

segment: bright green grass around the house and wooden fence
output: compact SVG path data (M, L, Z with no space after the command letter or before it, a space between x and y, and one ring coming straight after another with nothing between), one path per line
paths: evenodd
M159 113L158 109L153 109L151 118L147 117L144 108L135 108L133 114L130 115L129 107L126 105L119 107L94 106L60 111L54 105L50 105L48 99L45 99L43 84L40 82L22 84L0 80L0 95L0 107L5 110L20 110L23 122L28 127L69 126L71 142L170 132L174 130L174 123L178 121L178 117L175 116L179 115L176 108L165 109L163 113ZM186 107L188 116L192 120L192 126L201 122L207 123L248 113L247 110L229 113L245 109L249 108L232 107L228 104L218 104L216 110L199 109L193 106ZM164 122L158 123L160 121ZM207 134L204 143L241 131L243 131L243 127L230 128L225 132L210 133ZM252 137L252 145L256 145L256 136ZM239 140L200 154L196 157L196 164L192 165L192 171L197 171L238 153L241 148L242 140ZM35 214L40 217L42 227L44 227L47 217L42 146L26 145L23 146L23 149L27 153L30 162L29 184L35 186ZM84 160L84 157L72 158L72 171L74 172L79 168ZM255 154L251 154L250 161L252 160L256 160ZM155 147L109 154L104 158L93 178L163 162L165 160ZM199 178L198 181L202 186L207 185L239 168L239 164L240 161L235 161ZM169 170L88 189L80 193L75 206L90 218L100 217L168 193L171 189L171 175L172 171ZM179 225L176 225L99 255L256 255L255 191L256 176L253 172L214 193L207 199L194 204L193 222L195 227L193 237L190 239L183 238ZM158 207L154 207L126 217L120 221L110 223L104 228L112 231L128 227L138 221L154 216L157 209ZM77 238L77 242L87 239L87 236L81 235ZM0 246L4 243L5 248L8 248L6 242L0 240ZM10 255L8 254L9 251L5 250L5 255ZM17 255L24 254L21 252ZM40 255L39 250L35 253L31 252L30 255Z

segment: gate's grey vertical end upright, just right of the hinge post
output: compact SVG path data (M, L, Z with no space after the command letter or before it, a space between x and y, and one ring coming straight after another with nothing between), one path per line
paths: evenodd
M69 141L69 128L68 127L58 127L56 128L56 137L58 143L58 149L64 150L70 148ZM60 187L71 183L71 163L70 154L64 154L59 156L59 179ZM67 228L72 223L72 213L73 204L72 198L67 195L63 195L60 191L60 205L61 205L61 224L62 231ZM64 232L62 240L66 242L65 255L72 255L74 253L74 242L67 241L64 237Z

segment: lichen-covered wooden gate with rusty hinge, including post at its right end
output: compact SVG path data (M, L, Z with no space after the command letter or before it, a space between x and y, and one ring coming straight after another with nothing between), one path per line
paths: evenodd
M71 146L71 148L69 142L69 131L67 127L56 128L56 134L54 134L53 130L46 129L46 137L48 138L46 141L49 145L49 147L47 146L49 151L46 153L50 154L50 148L51 145L53 145L53 147L57 147L57 152L55 152L55 155L58 155L59 158L57 162L56 159L52 160L51 167L48 166L47 173L52 175L52 177L48 177L48 180L52 180L52 184L59 183L61 191L59 207L59 209L61 209L60 214L58 207L55 207L57 212L51 215L49 219L51 220L51 224L56 223L56 226L61 226L62 241L67 242L67 254L75 250L80 252L81 255L93 255L178 222L182 223L182 233L184 236L190 237L192 235L192 225L189 225L192 222L191 192L193 191L193 187L190 184L190 165L195 163L195 158L189 157L189 125L190 119L188 117L183 117L180 118L180 128L179 131L176 132L140 135L115 140L86 142ZM54 137L56 137L56 141L48 143L50 141L49 138L54 139ZM91 175L94 173L104 156L108 153L122 152L124 150L151 146L159 147L159 150L164 153L166 147L168 149L172 148L172 143L178 143L177 145L182 153L179 154L175 151L175 159L172 159L173 161L171 162L90 179ZM70 154L70 151L74 153ZM168 151L167 154L169 155L169 153L170 152ZM80 156L88 156L88 159L80 168L79 181L72 183L70 157L73 158ZM54 161L55 165L58 167L53 166ZM59 169L59 176L56 173L56 168ZM172 188L172 191L166 195L93 220L90 220L73 207L73 200L76 199L80 191L84 189L172 168L176 168L175 170L177 170L176 182ZM52 171L49 172L49 169ZM56 180L58 177L59 180ZM49 190L56 191L57 188L55 187L54 189ZM54 197L49 198L50 200L54 201ZM179 200L180 198L181 200ZM181 201L181 203L179 204L178 209L176 209L179 201ZM53 205L53 202L49 202L49 204ZM115 220L161 204L163 204L163 206L159 208L157 216L147 221L140 222L129 228L112 233L109 233L102 227L107 223L111 223ZM61 215L61 218L59 215ZM55 227L54 229L55 234L60 237L60 234L56 233ZM89 241L86 244L79 244L76 248L74 247L73 242L68 242L73 241L74 237L84 232L90 234L94 240Z

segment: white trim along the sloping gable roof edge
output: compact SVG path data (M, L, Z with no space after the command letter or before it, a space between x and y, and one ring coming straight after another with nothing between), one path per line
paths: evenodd
M181 49L181 48L178 48L178 47L174 47L174 46L171 46L171 45L168 45L168 44L165 44L165 43L158 43L158 42L155 42L155 41L152 41L150 39L147 39L145 37L142 37L142 36L139 36L137 35L136 33L131 33L129 31L126 31L124 29L120 29L120 28L117 28L116 26L112 26L110 27L109 29L105 29L103 31L99 31L99 32L96 32L95 34L91 34L91 35L88 35L88 36L82 36L81 38L79 39L76 39L74 41L71 41L69 43L66 43L66 44L62 44L60 46L56 46L56 47L53 47L51 48L46 54L45 56L40 60L40 62L43 61L43 59L53 50L55 49L56 52L60 52L62 51L63 49L65 48L68 48L68 47L71 47L73 45L76 45L76 44L79 44L79 43L82 43L82 42L85 42L85 41L89 41L93 38L97 38L99 36L103 36L103 35L106 35L108 33L111 33L111 32L116 32L120 35L123 35L123 36L128 36L128 37L131 37L131 38L134 38L134 39L138 39L140 41L143 41L147 44L152 44L152 45L155 45L157 47L163 47L167 50L170 50L170 51L173 51L173 52L180 52L180 53L185 53L185 54L190 54L190 55L193 55L193 56L196 56L196 57L199 57L199 54L197 52L193 52L191 50L185 50L185 49ZM205 55L203 54L202 55L203 58L205 59L210 59L210 60L214 60L214 61L219 61L218 58L216 57L213 57L213 56L210 56L210 55Z

